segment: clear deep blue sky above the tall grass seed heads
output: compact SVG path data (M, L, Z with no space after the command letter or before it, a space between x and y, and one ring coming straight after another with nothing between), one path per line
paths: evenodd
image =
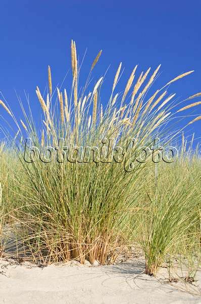
M170 93L186 98L201 92L200 12L201 1L196 0L1 0L0 90L20 118L23 116L17 109L15 90L22 99L26 90L33 112L38 115L35 87L38 85L41 91L45 88L48 64L52 67L53 85L61 84L70 68L73 39L80 57L87 48L83 73L103 49L95 78L110 65L106 77L110 89L120 61L125 67L122 80L125 83L135 64L139 64L140 71L162 63L156 89L178 74L194 69L193 74L169 88ZM193 114L201 115L201 106ZM191 126L187 134L195 131L199 137L201 121Z

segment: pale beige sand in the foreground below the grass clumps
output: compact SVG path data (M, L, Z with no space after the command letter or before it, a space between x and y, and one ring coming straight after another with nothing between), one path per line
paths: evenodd
M153 278L144 273L144 260L98 267L79 263L40 268L29 262L0 259L0 303L9 304L157 304L201 303L201 297L180 290L191 284L166 283L165 269ZM198 273L200 280L200 273ZM197 285L198 282L196 282ZM194 290L194 291L193 291Z

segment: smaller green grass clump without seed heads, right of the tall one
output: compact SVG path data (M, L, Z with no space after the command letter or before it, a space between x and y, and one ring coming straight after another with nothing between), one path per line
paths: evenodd
M196 163L196 162L195 162ZM193 168L195 165L196 170ZM185 160L159 170L155 191L147 190L148 211L140 217L146 273L156 276L167 256L199 259L200 162ZM145 217L145 218L142 218Z

